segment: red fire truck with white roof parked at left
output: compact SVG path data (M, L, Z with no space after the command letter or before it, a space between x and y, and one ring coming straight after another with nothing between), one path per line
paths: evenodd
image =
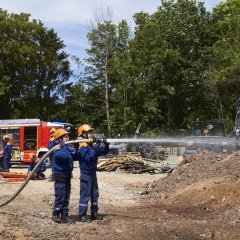
M50 129L66 127L64 123L44 122L40 119L0 120L0 151L3 150L5 134L13 140L12 164L30 163L30 153L47 151Z

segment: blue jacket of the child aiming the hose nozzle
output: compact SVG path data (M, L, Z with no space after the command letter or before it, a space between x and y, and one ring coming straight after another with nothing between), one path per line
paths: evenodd
M98 156L106 155L109 151L109 144L88 144L78 149L79 166L81 173L91 174L97 171Z

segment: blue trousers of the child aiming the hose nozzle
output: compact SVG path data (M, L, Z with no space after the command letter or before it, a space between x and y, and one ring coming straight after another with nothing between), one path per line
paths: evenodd
M80 217L86 216L89 200L91 200L91 214L97 213L98 198L99 198L99 190L98 190L96 173L81 174L79 216Z

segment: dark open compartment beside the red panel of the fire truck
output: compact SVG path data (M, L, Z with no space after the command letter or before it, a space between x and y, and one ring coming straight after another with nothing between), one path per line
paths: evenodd
M24 150L37 150L37 127L24 128Z

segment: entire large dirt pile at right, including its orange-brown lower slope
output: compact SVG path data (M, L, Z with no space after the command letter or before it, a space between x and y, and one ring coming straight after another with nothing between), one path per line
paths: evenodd
M240 209L240 151L200 151L183 159L171 175L146 185L144 198L165 204Z

